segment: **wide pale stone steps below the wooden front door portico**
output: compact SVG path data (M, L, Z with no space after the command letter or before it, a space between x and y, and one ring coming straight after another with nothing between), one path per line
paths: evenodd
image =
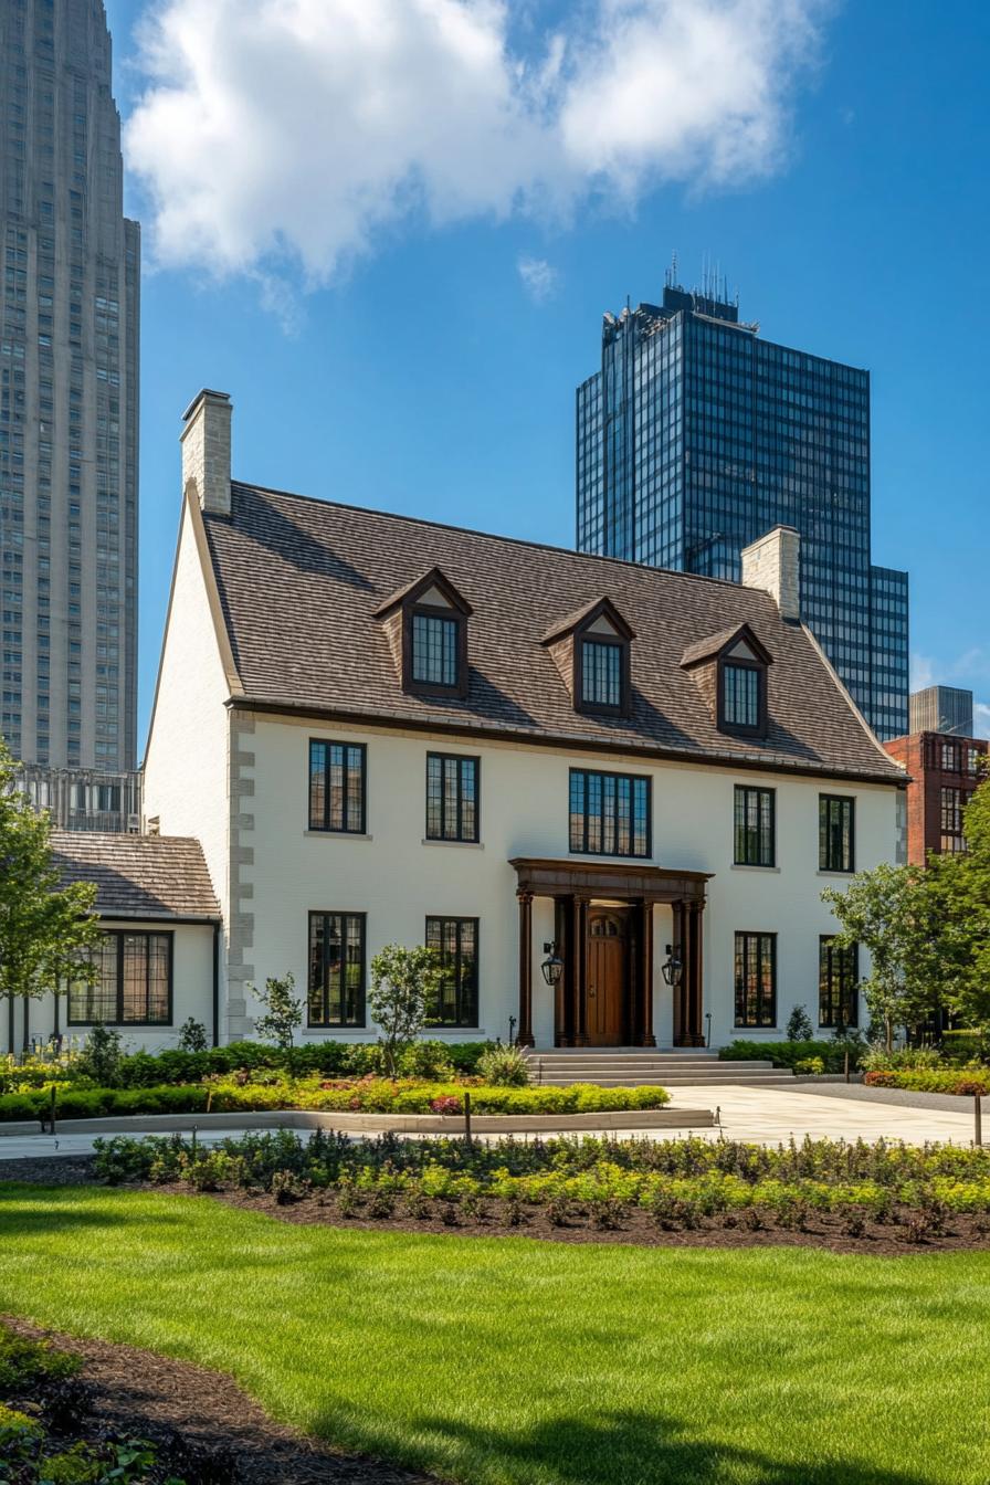
M561 1087L567 1083L597 1083L604 1089L635 1089L660 1084L665 1089L720 1083L791 1083L787 1068L772 1062L720 1062L704 1048L653 1051L643 1047L548 1047L530 1048L530 1081Z

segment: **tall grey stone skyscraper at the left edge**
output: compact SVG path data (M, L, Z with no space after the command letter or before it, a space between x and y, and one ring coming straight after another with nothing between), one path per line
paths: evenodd
M0 0L0 732L132 768L140 229L101 0Z

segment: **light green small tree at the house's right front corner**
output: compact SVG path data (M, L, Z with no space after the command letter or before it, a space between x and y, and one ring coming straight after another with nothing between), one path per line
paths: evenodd
M836 944L859 944L870 955L862 992L892 1051L896 1029L914 1031L951 983L934 879L923 867L885 863L859 872L845 892L827 888L822 901L842 925Z

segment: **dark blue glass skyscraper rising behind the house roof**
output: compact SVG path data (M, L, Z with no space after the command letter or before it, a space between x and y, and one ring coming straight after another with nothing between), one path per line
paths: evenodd
M577 388L577 546L739 582L801 536L801 615L880 738L907 728L907 573L870 561L870 374L775 346L724 294L669 282L606 315Z

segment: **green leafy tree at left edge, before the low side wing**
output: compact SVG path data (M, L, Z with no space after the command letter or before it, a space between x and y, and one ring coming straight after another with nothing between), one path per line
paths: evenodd
M13 759L0 738L0 999L39 998L64 980L92 983L99 937L92 882L59 885L52 821L13 790Z

